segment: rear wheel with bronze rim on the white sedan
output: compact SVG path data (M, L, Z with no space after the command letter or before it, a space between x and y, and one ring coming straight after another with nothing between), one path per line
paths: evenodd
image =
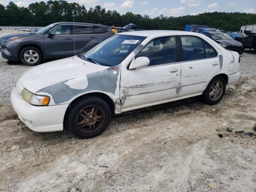
M208 84L206 90L202 94L204 103L209 105L215 105L224 96L226 91L226 81L223 77L214 77Z

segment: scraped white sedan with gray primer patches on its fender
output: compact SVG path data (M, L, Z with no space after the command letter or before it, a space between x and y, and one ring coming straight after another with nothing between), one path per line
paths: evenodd
M134 31L88 52L25 72L12 90L20 120L36 132L67 126L98 136L112 114L202 95L217 104L240 77L240 57L203 34Z

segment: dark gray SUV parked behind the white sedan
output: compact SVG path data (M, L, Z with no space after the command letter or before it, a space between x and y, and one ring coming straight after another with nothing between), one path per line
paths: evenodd
M114 35L110 26L101 24L59 22L36 33L0 37L0 52L8 60L38 65L42 60L82 54Z

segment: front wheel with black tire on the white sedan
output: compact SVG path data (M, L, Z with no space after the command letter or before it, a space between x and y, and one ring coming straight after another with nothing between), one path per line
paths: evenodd
M87 139L100 135L110 122L111 112L104 100L86 96L71 104L65 124L72 134Z

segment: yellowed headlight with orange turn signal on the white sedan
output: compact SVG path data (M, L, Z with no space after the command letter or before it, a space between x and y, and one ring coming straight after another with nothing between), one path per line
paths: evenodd
M36 95L26 89L23 89L20 95L26 102L35 106L47 106L50 102L50 97L45 95Z

